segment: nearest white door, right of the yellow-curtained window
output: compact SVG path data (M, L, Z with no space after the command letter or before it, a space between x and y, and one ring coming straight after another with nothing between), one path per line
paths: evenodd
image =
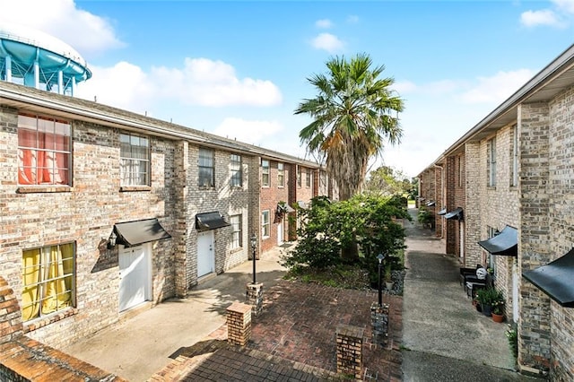
M152 290L149 244L119 249L119 311L150 300Z

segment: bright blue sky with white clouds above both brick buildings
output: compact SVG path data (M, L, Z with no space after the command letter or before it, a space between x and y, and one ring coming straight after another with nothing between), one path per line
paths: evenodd
M0 22L77 50L78 97L311 160L308 78L366 53L404 100L372 169L415 177L574 43L574 0L19 0Z

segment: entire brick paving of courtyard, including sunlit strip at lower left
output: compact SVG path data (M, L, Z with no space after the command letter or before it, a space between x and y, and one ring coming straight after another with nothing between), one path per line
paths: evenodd
M335 329L340 324L364 328L365 380L400 381L401 297L389 303L389 343L370 342L370 305L377 293L280 281L264 290L263 314L253 317L246 347L226 342L222 326L205 341L180 349L168 367L150 381L326 381L336 375Z

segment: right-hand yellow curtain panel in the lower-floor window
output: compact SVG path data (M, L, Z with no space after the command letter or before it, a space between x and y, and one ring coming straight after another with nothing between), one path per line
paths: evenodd
M64 263L70 268L72 244L60 247L44 248L44 280L46 281L42 296L42 314L48 314L70 306L70 289L66 288L66 279L71 282L72 275L64 278Z

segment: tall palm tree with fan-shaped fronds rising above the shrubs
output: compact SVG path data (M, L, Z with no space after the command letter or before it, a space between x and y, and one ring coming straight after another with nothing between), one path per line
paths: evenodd
M398 112L403 100L392 96L393 78L378 78L384 65L371 69L372 60L359 54L326 63L328 74L313 74L307 80L317 88L317 97L303 100L295 114L313 118L300 131L307 150L326 156L326 171L339 187L339 198L347 200L361 192L369 160L382 154L384 143L400 143L403 130Z

